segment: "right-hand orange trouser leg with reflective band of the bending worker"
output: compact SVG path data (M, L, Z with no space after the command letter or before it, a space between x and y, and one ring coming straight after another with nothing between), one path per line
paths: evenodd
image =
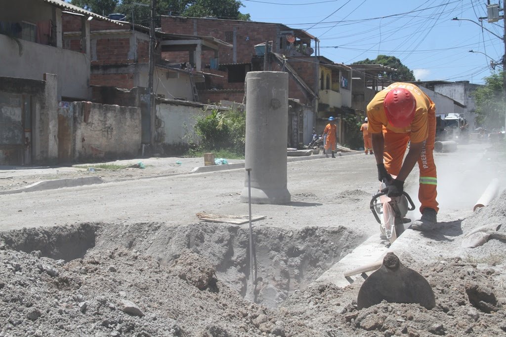
M429 136L424 142L424 148L421 150L418 158L418 167L420 169L420 185L418 188L418 200L420 201L420 213L424 208L435 209L439 211L436 197L437 192L437 174L436 164L434 163L433 150L434 138L436 136L436 115L428 115Z

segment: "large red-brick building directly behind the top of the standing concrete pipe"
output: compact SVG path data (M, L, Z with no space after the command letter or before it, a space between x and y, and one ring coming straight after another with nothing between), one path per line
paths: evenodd
M315 46L318 42L304 30L278 23L162 16L161 26L162 31L167 33L214 36L233 45L228 50L220 47L219 60L210 53L202 53L202 59L208 61L206 67L209 72L223 76L206 78L205 86L199 85L201 97L212 102L242 102L244 78L248 71L285 71L288 68L286 63L292 62L293 58L312 55L314 49L311 45ZM266 42L268 52L277 54L268 54L267 63L264 59ZM305 73L304 76L290 75L289 97L300 100L302 104L315 106L315 88L307 84L307 79L311 77L316 82L317 72L313 68L312 74Z

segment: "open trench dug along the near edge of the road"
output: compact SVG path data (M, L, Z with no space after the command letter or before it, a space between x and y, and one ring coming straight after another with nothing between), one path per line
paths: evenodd
M301 230L255 227L253 285L247 224L85 223L23 228L0 233L0 239L9 249L39 251L42 257L65 262L122 247L171 266L183 250L190 249L208 259L216 277L243 298L275 308L350 253L365 237L343 226Z

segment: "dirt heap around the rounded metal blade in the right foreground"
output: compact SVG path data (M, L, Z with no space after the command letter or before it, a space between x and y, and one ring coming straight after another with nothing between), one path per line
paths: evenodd
M506 332L506 289L496 281L502 268L478 269L476 264L459 258L409 267L418 270L433 287L434 309L383 302L358 310L355 300L359 285L343 290L323 284L310 285L294 294L279 312L294 328L293 335L304 335L303 330L296 329L298 321L306 322L305 328L314 329L316 335L328 336L464 336ZM494 309L490 311L490 307Z

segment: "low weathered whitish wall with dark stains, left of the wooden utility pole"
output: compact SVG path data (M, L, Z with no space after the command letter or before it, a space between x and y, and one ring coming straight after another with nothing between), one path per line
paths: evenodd
M139 108L71 102L58 119L60 161L132 158L141 148Z

